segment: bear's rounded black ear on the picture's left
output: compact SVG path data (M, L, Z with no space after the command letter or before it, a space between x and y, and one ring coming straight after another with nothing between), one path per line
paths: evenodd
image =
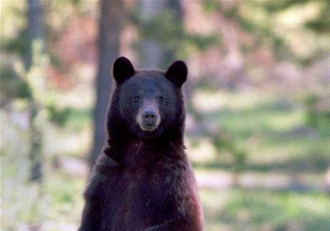
M128 58L119 57L114 62L113 75L118 84L121 84L132 77L134 73L134 67Z

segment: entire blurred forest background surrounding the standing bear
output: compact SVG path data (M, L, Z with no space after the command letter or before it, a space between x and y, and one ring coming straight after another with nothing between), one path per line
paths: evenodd
M1 0L1 230L76 230L111 66L189 67L205 230L329 230L329 1Z

